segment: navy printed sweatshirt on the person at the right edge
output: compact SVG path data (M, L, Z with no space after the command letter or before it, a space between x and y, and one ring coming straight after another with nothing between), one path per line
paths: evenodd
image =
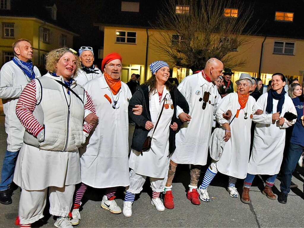
M295 97L292 99L292 102L295 105L298 117L292 131L290 142L304 147L304 126L302 125L301 119L301 117L303 116L304 96L301 95L299 97Z

